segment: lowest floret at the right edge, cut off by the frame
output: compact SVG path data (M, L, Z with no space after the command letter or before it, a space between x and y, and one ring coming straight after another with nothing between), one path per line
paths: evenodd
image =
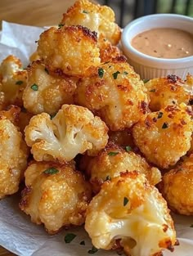
M173 212L193 215L193 155L164 174L161 192Z

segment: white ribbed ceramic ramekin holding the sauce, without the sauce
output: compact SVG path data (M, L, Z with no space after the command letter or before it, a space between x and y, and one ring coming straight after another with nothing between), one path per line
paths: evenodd
M193 56L177 59L156 58L138 52L132 47L132 38L137 34L156 28L182 29L193 34L193 18L175 14L154 14L133 20L123 29L123 53L128 57L129 64L140 74L141 79L154 79L168 74L176 74L185 79L187 73L193 74Z

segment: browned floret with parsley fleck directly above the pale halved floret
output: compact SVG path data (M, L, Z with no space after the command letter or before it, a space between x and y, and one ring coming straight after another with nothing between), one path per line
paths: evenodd
M41 61L28 68L28 83L23 101L25 109L34 115L46 112L54 115L63 104L73 103L75 79L50 74Z

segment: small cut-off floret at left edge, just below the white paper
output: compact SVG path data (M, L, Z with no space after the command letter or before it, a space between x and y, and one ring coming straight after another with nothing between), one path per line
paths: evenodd
M7 56L0 65L0 110L13 104L23 106L22 95L26 86L27 71L20 59Z

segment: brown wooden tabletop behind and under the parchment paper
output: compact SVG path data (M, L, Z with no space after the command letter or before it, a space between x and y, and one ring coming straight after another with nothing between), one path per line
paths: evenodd
M60 24L62 14L74 2L74 0L0 0L0 20L24 25L57 25ZM15 254L0 246L0 256L12 255Z

